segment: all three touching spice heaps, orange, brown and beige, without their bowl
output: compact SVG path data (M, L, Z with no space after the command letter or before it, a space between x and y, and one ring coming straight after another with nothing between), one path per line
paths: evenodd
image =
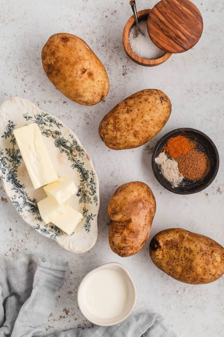
M184 136L170 138L155 162L161 165L162 174L172 187L180 185L184 178L203 179L210 170L207 154L195 149L195 144Z

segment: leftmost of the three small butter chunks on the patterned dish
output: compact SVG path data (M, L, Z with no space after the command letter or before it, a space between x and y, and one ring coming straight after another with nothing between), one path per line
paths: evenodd
M37 203L40 216L45 224L51 222L51 218L57 214L57 210L64 205L59 206L56 200L46 197Z

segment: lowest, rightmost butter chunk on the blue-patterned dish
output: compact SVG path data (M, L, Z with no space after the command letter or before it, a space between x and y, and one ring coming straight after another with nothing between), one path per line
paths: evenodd
M76 226L82 219L83 215L69 205L59 206L56 212L50 216L51 222L68 235L74 232Z

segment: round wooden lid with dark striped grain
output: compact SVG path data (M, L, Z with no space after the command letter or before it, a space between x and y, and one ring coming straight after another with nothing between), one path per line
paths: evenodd
M147 28L157 47L169 53L183 53L199 40L203 20L189 0L162 0L150 12Z

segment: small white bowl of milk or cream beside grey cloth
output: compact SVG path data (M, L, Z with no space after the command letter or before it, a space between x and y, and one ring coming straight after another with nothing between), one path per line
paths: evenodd
M77 301L82 314L93 324L111 326L129 316L136 302L136 287L120 263L93 269L81 281Z

